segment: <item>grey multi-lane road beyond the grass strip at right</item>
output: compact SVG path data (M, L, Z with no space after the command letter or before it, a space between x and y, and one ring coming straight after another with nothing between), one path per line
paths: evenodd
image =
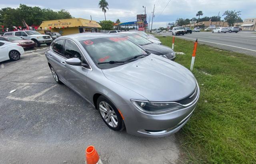
M161 33L171 36L171 32ZM211 33L211 32L192 32L184 36L175 36L186 40L196 40L199 43L211 45L213 47L244 53L256 57L256 32L241 31L238 33Z

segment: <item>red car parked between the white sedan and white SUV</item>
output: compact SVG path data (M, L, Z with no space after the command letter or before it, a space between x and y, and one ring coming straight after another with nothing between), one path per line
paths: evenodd
M36 46L36 43L33 40L24 40L18 36L2 36L0 37L0 40L18 43L18 45L23 48L34 48Z

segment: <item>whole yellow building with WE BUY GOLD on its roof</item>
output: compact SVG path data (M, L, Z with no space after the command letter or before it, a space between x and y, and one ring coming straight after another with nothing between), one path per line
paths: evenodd
M58 32L63 36L83 32L99 32L99 28L101 28L96 21L82 18L42 21L39 27L42 30Z

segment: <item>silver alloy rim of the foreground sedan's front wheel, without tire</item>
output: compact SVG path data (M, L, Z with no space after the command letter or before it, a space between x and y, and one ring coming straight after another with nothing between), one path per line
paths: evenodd
M116 113L108 103L106 103L105 101L101 101L99 104L99 109L102 118L109 126L114 128L118 126L118 119Z

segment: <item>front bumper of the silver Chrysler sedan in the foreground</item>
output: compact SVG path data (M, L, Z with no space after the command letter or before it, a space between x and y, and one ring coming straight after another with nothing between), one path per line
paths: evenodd
M117 107L124 116L124 124L129 134L164 137L178 132L188 122L196 108L198 98L199 94L196 101L184 109L160 115L142 113L133 104L117 105Z

